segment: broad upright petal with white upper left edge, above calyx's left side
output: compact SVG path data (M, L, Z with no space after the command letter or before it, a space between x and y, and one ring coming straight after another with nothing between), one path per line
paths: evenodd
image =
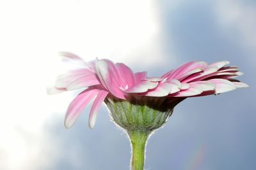
M122 80L120 79L120 74L115 64L107 59L96 60L95 69L102 85L114 96L125 99L124 93L120 90Z

